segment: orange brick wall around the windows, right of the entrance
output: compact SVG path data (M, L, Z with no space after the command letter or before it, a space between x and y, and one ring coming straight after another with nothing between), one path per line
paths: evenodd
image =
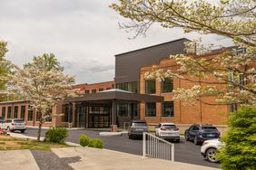
M211 57L214 57L211 56ZM157 65L158 68L168 68L171 71L177 71L179 68L173 59L162 59ZM151 71L152 66L146 66L141 68L140 71L140 93L145 94L145 79L144 73L146 71ZM189 76L183 75L184 77L190 78ZM198 80L198 78L193 78ZM209 80L214 80L210 77ZM177 88L190 89L196 83L188 80L173 80L173 90ZM202 84L203 86L203 84ZM218 86L217 88L224 88L223 86ZM156 80L156 93L153 95L162 96L164 101L172 101L173 93L162 93L162 82ZM213 102L214 98L202 98L205 102ZM204 104L200 101L196 101L195 105L185 105L185 101L175 100L174 101L174 117L173 118L164 118L162 117L162 103L156 103L156 117L150 118L145 117L145 103L140 105L141 118L145 119L150 125L156 125L160 122L172 122L176 124L191 125L194 123L210 123L214 125L226 125L228 118L229 106L228 105L214 105L210 106ZM225 126L224 126L225 127Z

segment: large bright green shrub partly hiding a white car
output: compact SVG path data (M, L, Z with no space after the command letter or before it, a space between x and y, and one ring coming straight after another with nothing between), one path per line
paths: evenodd
M256 107L242 107L231 113L229 130L222 137L224 146L216 158L222 169L255 169Z

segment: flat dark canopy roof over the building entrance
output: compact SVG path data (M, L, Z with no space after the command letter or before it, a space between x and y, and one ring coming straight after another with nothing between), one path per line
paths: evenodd
M104 90L94 94L85 94L83 97L74 97L65 99L65 102L77 101L95 101L95 100L130 100L130 101L143 101L143 102L162 102L163 97L148 95L148 94L134 94L125 90Z

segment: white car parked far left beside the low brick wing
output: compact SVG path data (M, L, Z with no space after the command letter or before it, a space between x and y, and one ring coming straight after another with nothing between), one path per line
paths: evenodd
M0 124L0 126L0 128L7 129L10 132L19 130L21 133L24 133L26 129L25 121L21 118L6 119L2 124Z

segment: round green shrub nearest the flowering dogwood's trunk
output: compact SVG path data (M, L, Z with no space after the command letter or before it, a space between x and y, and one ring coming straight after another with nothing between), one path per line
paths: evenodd
M50 128L46 133L45 137L47 140L50 142L58 143L58 144L63 144L64 139L68 137L67 134L67 129L64 127L53 127Z

